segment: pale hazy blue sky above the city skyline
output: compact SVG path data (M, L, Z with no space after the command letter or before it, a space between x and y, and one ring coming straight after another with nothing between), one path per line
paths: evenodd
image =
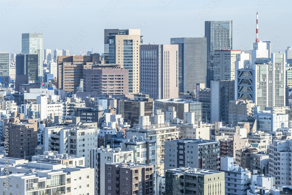
M292 1L279 0L1 0L0 51L20 53L21 33L39 32L44 49L104 52L105 28L140 28L143 43L201 37L204 21L232 20L233 49L252 49L259 35L272 51L292 45Z

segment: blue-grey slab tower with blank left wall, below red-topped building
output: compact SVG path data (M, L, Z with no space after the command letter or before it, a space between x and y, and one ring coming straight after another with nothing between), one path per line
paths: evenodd
M232 100L234 80L211 81L211 122L222 121L223 124L229 124L229 101Z

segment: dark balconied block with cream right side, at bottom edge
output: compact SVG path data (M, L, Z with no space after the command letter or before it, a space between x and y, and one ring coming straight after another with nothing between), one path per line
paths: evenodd
M224 172L176 168L165 172L165 195L225 194Z

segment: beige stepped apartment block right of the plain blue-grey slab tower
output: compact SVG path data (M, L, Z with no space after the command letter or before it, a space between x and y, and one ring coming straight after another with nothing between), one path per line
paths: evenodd
M255 106L251 100L229 101L229 125L236 126L238 122L246 121L252 116L252 108Z

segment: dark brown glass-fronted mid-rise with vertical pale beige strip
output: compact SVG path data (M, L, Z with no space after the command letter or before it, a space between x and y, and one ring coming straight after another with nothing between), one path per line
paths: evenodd
M148 94L135 94L134 100L119 101L119 114L124 118L124 122L133 127L139 124L139 116L152 116L153 98Z

